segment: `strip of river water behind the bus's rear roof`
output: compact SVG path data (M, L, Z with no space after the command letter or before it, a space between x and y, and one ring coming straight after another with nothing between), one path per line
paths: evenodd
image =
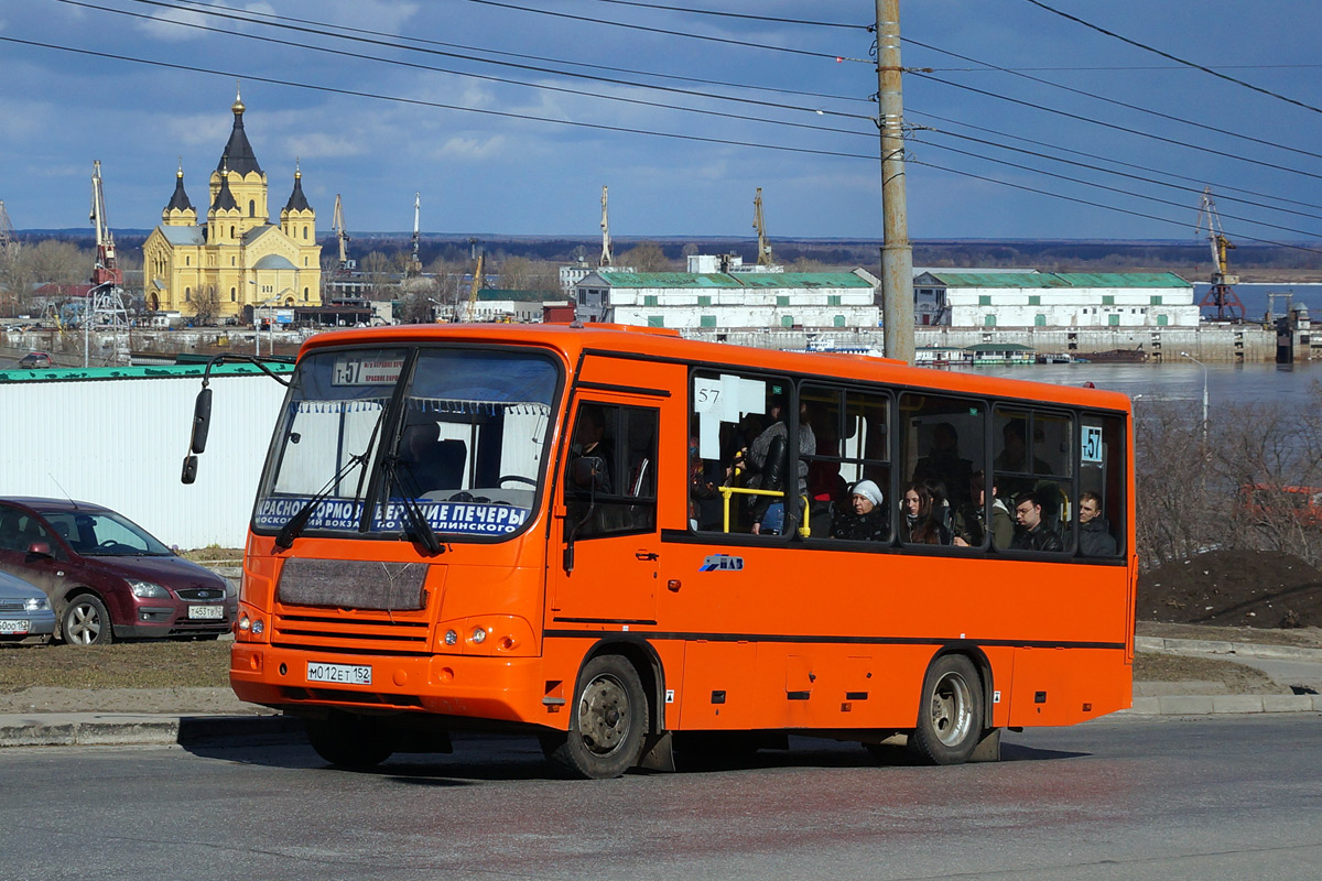
M1122 391L1140 403L1145 399L1200 403L1203 380L1212 409L1223 404L1272 404L1298 407L1301 415L1318 400L1322 362L1297 365L1207 365L1179 359L1146 365L1025 365L1021 367L964 367L986 376L1009 376L1060 386L1091 382L1097 388Z

